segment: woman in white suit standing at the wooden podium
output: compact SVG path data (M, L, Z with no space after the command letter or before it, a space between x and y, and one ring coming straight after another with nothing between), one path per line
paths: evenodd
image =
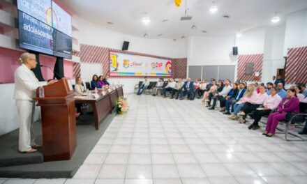
M40 87L38 79L31 71L32 68L36 68L36 56L24 53L20 56L19 61L22 65L17 68L14 74L14 98L16 100L17 113L20 116L19 150L22 153L32 153L37 151L36 148L38 147L35 144L35 136L31 128L35 109L33 98L36 96L36 89ZM48 82L48 84L52 83L54 81Z

